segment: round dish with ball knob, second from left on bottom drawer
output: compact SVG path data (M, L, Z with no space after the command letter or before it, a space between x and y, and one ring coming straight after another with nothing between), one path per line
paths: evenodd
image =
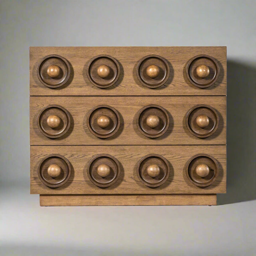
M91 159L87 175L98 187L113 185L120 176L120 164L116 158L108 154L96 155Z

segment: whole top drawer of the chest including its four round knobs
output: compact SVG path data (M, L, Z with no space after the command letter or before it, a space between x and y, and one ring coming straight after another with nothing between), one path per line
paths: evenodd
M226 47L30 47L31 96L226 95Z

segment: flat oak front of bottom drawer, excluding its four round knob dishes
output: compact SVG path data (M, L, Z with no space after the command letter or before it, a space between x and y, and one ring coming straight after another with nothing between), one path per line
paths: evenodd
M95 186L87 175L89 162L98 154L109 154L121 167L119 179L110 187ZM218 161L219 175L208 187L198 187L186 175L188 160L197 154L209 154ZM38 177L38 165L50 154L61 154L71 164L69 180L59 188L49 188ZM137 176L140 159L148 154L163 156L170 165L168 180L159 187L145 186ZM32 194L212 194L226 192L226 146L31 146Z

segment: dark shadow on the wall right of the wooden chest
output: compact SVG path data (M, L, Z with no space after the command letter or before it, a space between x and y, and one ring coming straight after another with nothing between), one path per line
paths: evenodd
M227 66L227 193L218 204L256 199L256 68Z

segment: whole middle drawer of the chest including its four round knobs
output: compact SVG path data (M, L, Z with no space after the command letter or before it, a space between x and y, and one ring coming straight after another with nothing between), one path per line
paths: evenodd
M31 145L225 145L225 96L30 97Z

